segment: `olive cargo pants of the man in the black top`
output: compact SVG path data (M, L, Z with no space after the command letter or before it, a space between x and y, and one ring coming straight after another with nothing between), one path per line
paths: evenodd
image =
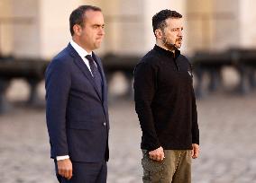
M142 150L143 183L191 183L191 150L164 150L164 155L154 161Z

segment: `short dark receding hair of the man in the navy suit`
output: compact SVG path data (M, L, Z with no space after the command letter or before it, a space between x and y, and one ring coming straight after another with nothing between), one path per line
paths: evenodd
M101 12L101 9L99 7L96 7L93 5L80 5L69 16L69 30L70 30L71 36L73 36L75 33L73 30L74 25L78 24L81 27L84 26L84 17L85 17L85 13L88 10Z

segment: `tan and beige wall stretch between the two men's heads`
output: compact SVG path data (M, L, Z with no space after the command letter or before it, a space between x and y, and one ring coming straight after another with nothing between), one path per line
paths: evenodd
M105 14L105 53L138 54L144 45L142 1L110 0Z

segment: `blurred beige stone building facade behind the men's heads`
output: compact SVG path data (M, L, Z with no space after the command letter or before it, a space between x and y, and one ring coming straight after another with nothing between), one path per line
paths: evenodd
M185 18L183 51L256 47L253 0L1 0L0 53L50 58L70 39L69 13L80 4L100 6L105 40L98 54L143 55L154 44L151 17L173 9Z

